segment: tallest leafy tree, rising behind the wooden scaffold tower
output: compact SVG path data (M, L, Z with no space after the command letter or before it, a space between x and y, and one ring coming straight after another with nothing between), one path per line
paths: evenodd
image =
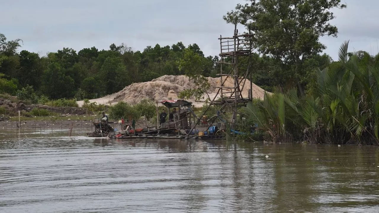
M224 16L228 23L242 23L254 32L254 44L268 54L292 67L293 78L304 94L304 75L301 65L305 60L322 52L326 46L321 36L337 37L337 27L329 23L334 19L331 8L346 8L341 0L247 0L235 11Z

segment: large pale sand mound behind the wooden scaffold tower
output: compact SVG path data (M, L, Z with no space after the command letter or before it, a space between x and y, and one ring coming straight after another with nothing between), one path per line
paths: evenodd
M224 81L225 78L226 77L222 77L222 81ZM215 97L219 89L217 87L221 85L220 77L208 77L208 81L211 85L208 94L210 95L210 98L213 99L213 97ZM234 79L228 77L226 82L224 83L224 86L233 87ZM184 89L194 88L196 88L194 83L191 82L189 78L185 75L163 75L151 81L133 83L132 85L126 86L119 92L102 97L100 99L92 99L90 100L90 102L113 105L119 101L135 104L141 101L142 99L152 99L155 101L165 99L177 99L179 92L183 91ZM252 84L252 88L253 97L263 99L265 90L255 85L254 83ZM240 89L242 90L242 96L244 98L247 98L248 90L250 89L250 81L246 80L244 84L243 80L240 84ZM232 89L223 89L223 92L231 90ZM221 93L218 94L218 97L216 97L216 99L218 99L219 97L221 97ZM194 99L190 99L189 101L191 101L193 105L197 107L201 107L204 104L203 102L195 102ZM78 101L78 105L83 105L83 101Z

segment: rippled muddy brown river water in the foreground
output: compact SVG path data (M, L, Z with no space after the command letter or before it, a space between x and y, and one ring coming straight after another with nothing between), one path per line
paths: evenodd
M379 212L378 147L67 131L0 132L0 212Z

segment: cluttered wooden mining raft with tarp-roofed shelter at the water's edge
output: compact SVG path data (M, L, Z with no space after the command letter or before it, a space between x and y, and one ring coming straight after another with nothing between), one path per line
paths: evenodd
M158 104L167 108L168 115L171 111L176 111L171 119L160 123L160 112ZM176 108L176 110L174 110ZM219 119L216 125L215 121ZM225 136L224 120L220 117L220 112L216 116L207 119L199 118L192 110L192 103L187 100L161 100L157 102L157 125L135 128L135 123L121 124L121 130L111 127L113 122L99 120L93 123L95 131L88 133L92 137L109 138L163 138L163 139L222 139ZM199 124L199 125L198 125ZM209 125L211 124L211 125Z

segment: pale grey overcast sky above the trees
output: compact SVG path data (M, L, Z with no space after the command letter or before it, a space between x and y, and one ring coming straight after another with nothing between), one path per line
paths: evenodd
M378 53L377 0L342 0L334 9L338 38L324 37L326 53L337 60L338 48ZM133 50L179 41L196 43L206 56L219 54L218 37L231 36L233 25L222 16L243 0L9 0L0 6L0 33L23 40L22 49L45 55L63 47L108 49L124 42ZM243 29L243 28L242 28Z

